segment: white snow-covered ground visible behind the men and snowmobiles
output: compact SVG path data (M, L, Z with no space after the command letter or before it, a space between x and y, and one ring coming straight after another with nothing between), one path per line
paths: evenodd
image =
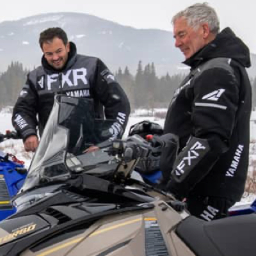
M11 122L11 109L2 109L0 112L0 132L5 133L6 130L13 130L12 122ZM166 109L157 109L157 112L166 111ZM249 159L249 169L248 175L252 177L253 173L256 171L254 167L254 163L256 163L256 112L252 113L253 120L251 121L251 145L250 145L250 159ZM135 113L132 113L129 118L129 122L127 125L127 129L125 130L124 137L129 133L129 129L131 125L134 125L142 120L150 120L152 122L156 122L160 124L162 127L164 125L164 118L156 118L152 116L152 113L147 110L138 110ZM8 140L4 141L0 145L0 151L4 153L11 153L15 155L19 160L25 162L26 168L29 168L29 164L31 162L31 158L33 157L33 153L25 152L23 148L22 140ZM252 202L256 198L256 195L246 195L241 200L241 202L237 204L244 204L248 202Z

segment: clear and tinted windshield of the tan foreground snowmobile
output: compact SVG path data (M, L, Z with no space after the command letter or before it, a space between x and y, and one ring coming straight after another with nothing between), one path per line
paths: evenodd
M95 118L92 99L56 95L21 191L67 180L74 172L88 170L92 159L94 166L102 159L109 160L106 152L98 150L95 154L90 148L109 144L109 129L114 122ZM85 161L80 161L83 155Z

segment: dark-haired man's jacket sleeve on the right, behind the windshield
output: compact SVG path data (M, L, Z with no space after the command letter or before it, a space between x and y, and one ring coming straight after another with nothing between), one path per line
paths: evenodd
M117 83L113 74L99 59L97 60L95 70L93 93L96 94L104 106L106 119L116 120L109 129L111 140L121 138L130 115L130 103L127 95L120 84Z

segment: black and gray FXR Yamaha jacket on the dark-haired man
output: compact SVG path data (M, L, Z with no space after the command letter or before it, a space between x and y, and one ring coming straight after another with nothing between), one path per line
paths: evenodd
M93 99L95 116L115 119L112 136L122 136L130 113L124 90L99 58L77 54L76 45L70 42L65 67L55 70L42 56L42 66L28 74L12 116L13 126L23 140L36 134L37 126L42 134L56 93Z

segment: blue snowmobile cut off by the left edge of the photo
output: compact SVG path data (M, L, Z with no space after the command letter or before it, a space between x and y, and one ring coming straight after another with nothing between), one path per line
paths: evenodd
M0 133L0 143L9 139L19 139L14 131ZM24 163L12 154L0 151L0 221L16 212L12 198L17 194L26 179Z

